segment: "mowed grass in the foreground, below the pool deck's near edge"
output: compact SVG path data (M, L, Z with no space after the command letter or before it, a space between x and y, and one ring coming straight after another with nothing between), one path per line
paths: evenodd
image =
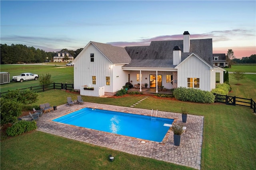
M108 161L108 155L115 157ZM191 170L168 162L34 131L1 141L1 170Z

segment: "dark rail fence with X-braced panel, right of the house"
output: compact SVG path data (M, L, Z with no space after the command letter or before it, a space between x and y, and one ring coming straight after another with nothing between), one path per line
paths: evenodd
M215 95L215 101L220 103L225 103L226 105L238 105L238 106L245 106L250 107L253 109L253 112L256 112L256 103L252 99L245 99L242 97L236 96L227 96L227 95Z

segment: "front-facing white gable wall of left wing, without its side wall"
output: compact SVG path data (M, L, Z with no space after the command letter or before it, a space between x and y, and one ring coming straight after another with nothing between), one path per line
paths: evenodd
M94 53L94 62L90 61L91 53ZM90 96L99 96L98 88L106 85L106 76L109 76L111 81L111 65L111 61L94 47L94 45L88 45L74 61L74 89L81 88L81 95L90 94ZM92 84L92 76L96 76L96 85ZM94 90L84 90L84 85L94 87ZM105 86L104 90L111 91L111 86Z

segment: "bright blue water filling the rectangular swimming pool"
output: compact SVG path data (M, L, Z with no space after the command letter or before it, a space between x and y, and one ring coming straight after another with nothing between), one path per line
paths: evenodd
M174 119L120 113L101 109L83 108L52 121L121 134L145 140L162 142Z

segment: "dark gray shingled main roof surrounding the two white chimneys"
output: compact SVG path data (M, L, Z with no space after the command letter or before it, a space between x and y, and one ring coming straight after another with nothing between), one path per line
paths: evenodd
M183 40L153 41L149 46L125 47L131 62L123 67L161 67L174 68L173 48L179 46L183 51ZM190 52L181 53L181 61L195 53L213 66L212 39L190 40Z

